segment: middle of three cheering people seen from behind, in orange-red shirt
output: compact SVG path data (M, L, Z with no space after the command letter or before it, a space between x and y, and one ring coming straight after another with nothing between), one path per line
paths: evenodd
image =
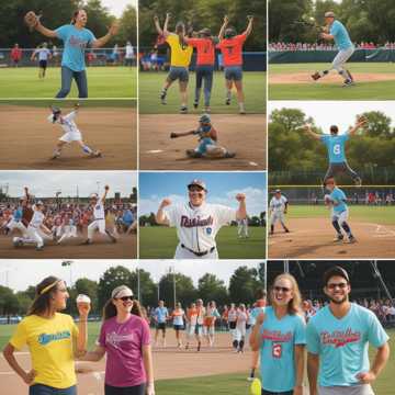
M193 106L198 109L204 81L204 106L205 112L210 113L210 100L213 88L213 75L215 64L216 37L212 37L210 29L205 27L199 32L196 38L183 38L184 43L196 48L196 88Z

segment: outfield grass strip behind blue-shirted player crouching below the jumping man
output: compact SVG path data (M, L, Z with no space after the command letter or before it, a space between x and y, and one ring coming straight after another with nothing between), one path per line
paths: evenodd
M363 206L349 205L350 218L380 225L395 225L395 206ZM329 217L329 211L324 205L291 205L289 218Z

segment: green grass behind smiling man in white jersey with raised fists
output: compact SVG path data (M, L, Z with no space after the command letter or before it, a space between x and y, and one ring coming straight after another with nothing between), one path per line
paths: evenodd
M237 238L236 226L225 226L217 235L221 259L262 259L266 257L266 228L248 228L249 238ZM140 227L139 258L171 259L178 245L174 228L154 226Z

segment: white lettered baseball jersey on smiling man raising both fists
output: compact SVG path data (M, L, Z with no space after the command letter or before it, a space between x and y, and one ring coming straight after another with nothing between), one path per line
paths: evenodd
M177 227L180 244L195 252L216 247L215 236L222 226L236 221L236 210L221 204L203 203L194 207L190 202L165 211L170 226Z

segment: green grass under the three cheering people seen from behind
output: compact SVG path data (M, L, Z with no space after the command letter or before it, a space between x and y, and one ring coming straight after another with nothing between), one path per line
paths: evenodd
M180 94L178 82L174 82L168 90L167 104L160 103L159 94L167 74L165 72L140 72L139 74L139 111L142 114L174 114L180 110ZM247 113L266 113L266 72L244 72L244 91L246 97ZM203 92L201 105L193 109L195 89L195 74L190 72L189 112L196 114L203 109ZM233 95L232 104L225 105L225 79L223 72L214 74L212 90L211 110L213 113L238 113L236 93Z

